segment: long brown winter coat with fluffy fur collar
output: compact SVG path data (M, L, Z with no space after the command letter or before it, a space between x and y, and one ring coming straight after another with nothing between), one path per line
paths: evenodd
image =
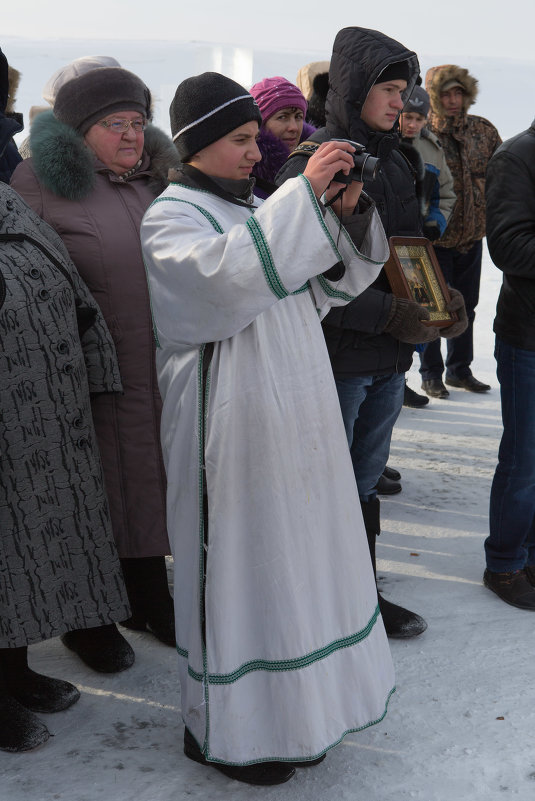
M12 179L17 192L63 239L115 341L124 394L94 396L92 411L123 558L169 553L161 400L139 229L165 186L167 167L178 159L168 138L151 128L140 169L122 180L93 157L73 129L45 112L32 128L33 156ZM46 146L52 141L49 158ZM68 163L69 147L76 146L80 154Z

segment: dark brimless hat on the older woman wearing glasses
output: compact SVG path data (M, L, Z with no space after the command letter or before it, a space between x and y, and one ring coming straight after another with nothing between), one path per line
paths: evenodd
M82 136L114 111L138 111L150 119L151 97L143 81L122 67L101 67L63 84L54 114Z

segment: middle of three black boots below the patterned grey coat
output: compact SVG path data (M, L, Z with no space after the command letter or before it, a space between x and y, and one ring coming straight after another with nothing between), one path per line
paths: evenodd
M1 648L0 670L9 695L32 712L61 712L80 698L74 684L31 670L26 647Z

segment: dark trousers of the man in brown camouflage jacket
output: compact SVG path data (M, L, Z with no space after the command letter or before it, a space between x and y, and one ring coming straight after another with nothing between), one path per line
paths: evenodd
M468 253L459 253L454 248L435 247L446 283L459 290L468 316L468 328L464 334L447 340L446 377L466 378L472 375L470 365L474 358L474 318L479 300L482 250L481 240L472 245ZM440 338L428 342L420 354L420 373L424 380L442 378L444 362L440 344Z

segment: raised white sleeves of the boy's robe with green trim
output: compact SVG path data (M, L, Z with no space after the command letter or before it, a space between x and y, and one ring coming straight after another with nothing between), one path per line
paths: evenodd
M227 339L341 259L347 269L336 291L348 302L378 274L386 241L383 234L363 258L345 237L337 247L329 227L303 176L226 232L200 204L164 193L141 226L157 337L189 345Z

